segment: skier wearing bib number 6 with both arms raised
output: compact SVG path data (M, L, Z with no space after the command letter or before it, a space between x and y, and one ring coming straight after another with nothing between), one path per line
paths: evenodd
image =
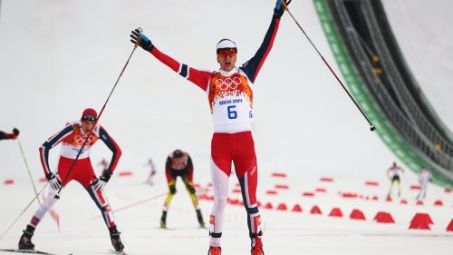
M291 0L284 0L285 5L289 5L290 2ZM261 240L263 231L256 201L258 172L251 132L254 119L252 89L255 88L256 76L274 44L280 18L284 14L284 4L282 0L277 0L263 43L255 55L240 67L236 67L236 43L230 39L220 40L216 47L220 70L208 72L181 64L169 55L163 54L146 35L140 34L139 29L130 34L133 44L138 43L161 63L168 65L174 72L195 83L207 93L214 123L211 142L214 206L209 219L210 255L221 254L220 239L232 162L235 164L236 176L246 207L251 254L264 254Z

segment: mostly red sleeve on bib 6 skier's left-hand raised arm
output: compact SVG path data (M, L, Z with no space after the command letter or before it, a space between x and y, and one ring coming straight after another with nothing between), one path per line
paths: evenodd
M181 64L169 55L160 52L156 47L152 49L151 54L153 54L161 63L169 66L174 72L188 79L188 81L195 83L203 91L207 91L209 79L212 76L211 72L201 71L189 67L187 64Z

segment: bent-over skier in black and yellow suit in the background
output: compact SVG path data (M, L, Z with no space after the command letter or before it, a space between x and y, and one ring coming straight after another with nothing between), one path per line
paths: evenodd
M184 181L184 185L186 185L190 200L194 205L195 211L197 211L199 226L201 228L205 227L203 215L201 214L201 210L199 209L196 191L193 186L193 173L194 166L192 164L192 159L188 155L188 152L175 150L174 152L171 152L169 154L167 162L165 163L165 175L167 176L167 181L169 184L169 194L167 195L167 198L165 198L164 209L162 211L162 217L160 218L160 228L167 228L167 211L169 210L170 202L176 193L176 181L178 176L180 176L182 181Z

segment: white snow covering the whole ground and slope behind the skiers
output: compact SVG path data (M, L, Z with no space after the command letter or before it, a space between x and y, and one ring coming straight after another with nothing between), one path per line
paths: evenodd
M86 107L101 109L129 56L130 30L141 26L161 51L181 62L216 70L215 45L224 37L239 47L238 64L255 54L272 15L275 1L2 1L0 13L0 129L21 130L20 142L34 181L43 176L38 148L47 137L79 118ZM292 13L313 42L334 64L312 1L294 1ZM234 15L232 15L232 12ZM219 18L220 17L220 18ZM452 220L453 198L430 186L424 206L416 206L416 176L406 172L402 198L385 202L385 172L395 157L342 92L304 35L284 15L275 45L256 80L255 146L260 183L258 198L290 209L299 203L304 212L262 210L266 254L449 254L453 235L446 231ZM111 97L101 124L123 150L117 172L107 186L113 210L167 191L163 167L169 152L187 150L193 157L195 180L209 182L209 142L212 123L206 95L173 74L140 49ZM3 233L33 198L34 191L15 141L0 142L0 231ZM99 142L101 144L101 142ZM51 152L56 167L59 148ZM105 146L92 149L92 162L110 158ZM158 185L144 183L151 157L158 167ZM97 172L101 169L98 166ZM272 172L285 172L275 179ZM320 182L323 176L333 182ZM13 185L3 181L13 179ZM379 187L365 186L379 181ZM230 180L234 191L236 177ZM206 254L207 230L197 228L188 195L178 183L168 222L176 230L159 230L163 197L115 213L129 254ZM275 184L289 191L266 195ZM43 183L39 183L38 190ZM314 197L303 191L325 188ZM338 191L379 196L379 201L342 199ZM237 193L232 193L237 197ZM445 206L432 206L441 199ZM207 221L211 201L200 201ZM308 213L313 204L321 216ZM343 219L327 217L340 207ZM347 219L353 208L367 221ZM0 249L12 249L37 203L24 212L0 240ZM35 232L36 249L56 254L107 254L108 232L99 211L80 185L70 183L54 207L61 231L47 215ZM377 224L377 211L392 213L396 224ZM249 251L246 214L242 207L226 209L224 254ZM432 230L408 230L416 212L429 212Z

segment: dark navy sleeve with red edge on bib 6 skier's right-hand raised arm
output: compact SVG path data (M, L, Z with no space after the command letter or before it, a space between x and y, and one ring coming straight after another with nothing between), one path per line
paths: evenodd
M265 63L265 58L267 57L267 54L269 54L269 52L272 49L275 34L277 34L279 25L280 18L273 15L271 25L267 29L267 33L265 33L265 39L261 46L259 47L258 51L250 60L248 60L245 64L243 64L240 67L242 71L246 73L248 79L252 83L255 83L256 76L258 75L261 66Z

